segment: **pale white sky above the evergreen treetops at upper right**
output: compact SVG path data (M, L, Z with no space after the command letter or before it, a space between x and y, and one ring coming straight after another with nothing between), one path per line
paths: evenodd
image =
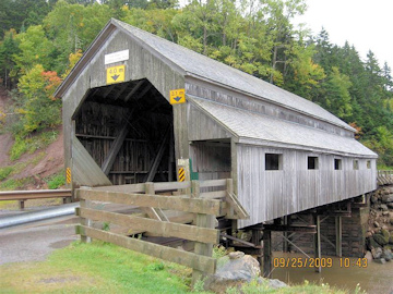
M393 71L393 0L307 0L307 12L295 23L305 23L313 35L322 26L330 41L354 45L362 60L371 50L381 68Z

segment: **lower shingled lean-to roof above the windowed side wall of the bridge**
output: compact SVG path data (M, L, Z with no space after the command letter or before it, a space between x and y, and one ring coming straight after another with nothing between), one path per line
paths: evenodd
M203 110L239 142L264 146L285 146L319 152L336 152L343 156L377 158L377 155L355 138L343 137L297 123L263 115L205 99L191 98L192 103Z

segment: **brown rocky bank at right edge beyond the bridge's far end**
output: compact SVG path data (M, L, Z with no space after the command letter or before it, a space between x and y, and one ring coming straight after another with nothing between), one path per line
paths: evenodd
M393 186L382 186L371 195L366 257L384 264L393 259Z

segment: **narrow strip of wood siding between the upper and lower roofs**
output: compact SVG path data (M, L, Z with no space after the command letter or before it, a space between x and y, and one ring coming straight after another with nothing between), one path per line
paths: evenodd
M302 125L320 128L340 136L346 136L350 138L354 137L354 133L349 130L335 126L317 118L310 118L309 115L301 114L278 105L263 101L259 98L253 98L252 96L247 96L247 94L229 90L223 87L218 87L217 85L198 81L192 77L187 77L186 90L187 94L190 96L205 98L212 101L245 110L250 110L253 112L259 112L261 114L266 114L281 120L286 120Z

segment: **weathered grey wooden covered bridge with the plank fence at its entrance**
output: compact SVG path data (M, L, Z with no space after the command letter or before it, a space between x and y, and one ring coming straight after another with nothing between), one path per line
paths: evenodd
M98 200L144 207L136 217L102 217L118 218L132 232L178 236L179 228L159 222L193 223L222 229L236 241L235 230L264 229L267 244L269 232L284 226L278 220L300 211L313 211L318 220L330 206L377 187L377 155L355 140L345 122L117 20L100 32L56 96L63 101L68 183L73 189L87 186L74 194L82 199L85 236L140 246L132 243L138 240L87 225L87 219L99 217L85 201ZM191 217L167 212L178 209ZM259 248L258 230L240 245ZM192 240L199 255L210 255L209 244L218 242L212 235ZM171 255L157 250L156 256ZM187 265L193 267L199 259L190 258Z

